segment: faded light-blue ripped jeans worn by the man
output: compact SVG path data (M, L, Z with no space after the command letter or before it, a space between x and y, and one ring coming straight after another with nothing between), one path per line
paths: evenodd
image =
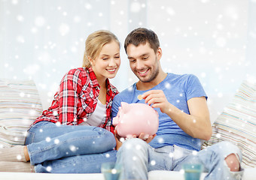
M123 165L122 179L148 179L148 171L182 169L184 163L201 163L205 179L234 179L225 163L225 157L237 154L242 161L242 153L230 142L218 142L202 151L190 151L177 145L152 148L142 139L133 138L123 142L117 152L117 163ZM242 172L238 172L242 173Z

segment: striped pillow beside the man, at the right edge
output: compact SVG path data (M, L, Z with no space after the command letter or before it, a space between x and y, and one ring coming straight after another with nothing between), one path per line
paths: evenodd
M242 151L241 165L256 166L256 83L242 83L233 101L216 119L212 131L212 138L203 148L216 142L233 142Z

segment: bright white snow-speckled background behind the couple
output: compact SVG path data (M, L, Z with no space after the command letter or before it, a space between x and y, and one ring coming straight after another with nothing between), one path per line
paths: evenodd
M123 41L133 28L160 38L163 70L195 74L212 121L243 80L256 77L256 0L0 0L0 78L32 79L49 107L63 75L81 67L88 34L119 38L122 91L137 81Z

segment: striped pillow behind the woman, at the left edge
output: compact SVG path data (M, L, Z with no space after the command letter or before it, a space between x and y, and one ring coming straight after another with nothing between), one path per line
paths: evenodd
M0 148L24 145L26 131L42 113L32 80L0 79Z

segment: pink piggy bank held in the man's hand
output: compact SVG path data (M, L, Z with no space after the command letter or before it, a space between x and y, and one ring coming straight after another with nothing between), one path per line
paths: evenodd
M151 136L158 130L158 113L148 104L127 104L121 102L117 116L113 118L117 134L121 137L131 138L133 135Z

